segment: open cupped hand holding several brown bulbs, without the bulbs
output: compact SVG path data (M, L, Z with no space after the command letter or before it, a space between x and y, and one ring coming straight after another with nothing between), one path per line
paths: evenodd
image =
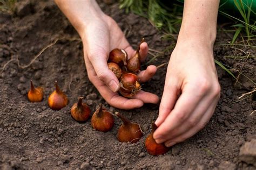
M140 90L132 99L119 96L119 81L107 66L109 52L113 48L123 48L128 58L134 55L135 51L130 46L114 20L108 16L96 18L89 22L82 30L82 41L84 45L84 59L89 80L98 89L99 93L107 103L120 109L133 109L142 107L144 103L158 103L157 95ZM145 60L148 46L146 42L140 45L142 61ZM156 66L149 66L138 74L140 82L151 79L156 73Z

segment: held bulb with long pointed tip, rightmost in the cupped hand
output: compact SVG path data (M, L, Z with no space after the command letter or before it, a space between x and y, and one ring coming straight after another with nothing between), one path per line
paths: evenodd
M145 39L143 38L140 41L140 44L142 44L145 41ZM126 68L132 72L132 73L138 73L140 70L140 55L139 55L139 49L140 49L140 44L136 50L135 55L133 55L128 61L127 61L127 65Z

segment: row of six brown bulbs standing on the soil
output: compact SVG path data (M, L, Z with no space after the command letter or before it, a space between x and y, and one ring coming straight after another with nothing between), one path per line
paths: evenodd
M43 100L43 88L34 87L32 81L31 89L28 92L28 99L30 102L41 102ZM55 82L55 91L48 97L48 104L52 110L60 110L68 105L68 97L59 88L57 81ZM85 122L89 119L91 109L83 102L83 97L78 98L78 102L74 103L70 110L71 116L77 122ZM131 122L119 112L114 114L103 108L102 104L93 113L91 117L91 125L97 131L107 132L110 131L114 124L114 116L119 117L123 124L118 129L117 139L120 142L137 143L143 137L142 128L139 124ZM169 148L164 144L157 144L153 139L153 132L157 129L156 124L152 123L152 132L145 140L145 147L147 152L152 155L160 155L169 151Z

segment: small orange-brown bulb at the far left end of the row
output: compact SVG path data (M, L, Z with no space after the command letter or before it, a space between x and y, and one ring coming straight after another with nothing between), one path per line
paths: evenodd
M28 99L30 102L41 102L44 97L44 91L42 87L35 88L33 86L32 80L30 81L30 90L28 92Z

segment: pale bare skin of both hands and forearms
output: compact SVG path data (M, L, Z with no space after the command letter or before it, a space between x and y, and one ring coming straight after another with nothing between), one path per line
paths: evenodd
M123 48L129 58L134 49L117 23L100 10L96 1L55 0L83 41L84 60L89 80L107 103L120 109L159 103L157 95L141 90L133 98L120 96L119 83L107 67L107 56L113 48ZM157 143L172 146L190 138L210 120L220 96L220 86L213 60L213 44L219 1L187 0L183 22L166 72L163 97L153 134ZM139 39L138 39L139 42ZM145 60L149 47L140 45ZM139 73L142 82L156 73L148 66Z

